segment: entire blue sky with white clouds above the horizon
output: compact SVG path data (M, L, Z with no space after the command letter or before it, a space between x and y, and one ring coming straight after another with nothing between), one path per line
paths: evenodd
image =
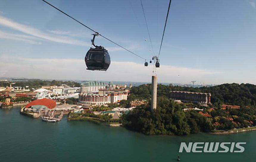
M48 0L145 58L153 55L140 0ZM157 54L168 0L143 0ZM256 84L255 0L173 0L157 71L160 82ZM152 66L96 38L112 63L85 70L91 31L40 0L0 2L0 77L150 81ZM147 41L145 41L147 39ZM179 76L178 76L179 75Z

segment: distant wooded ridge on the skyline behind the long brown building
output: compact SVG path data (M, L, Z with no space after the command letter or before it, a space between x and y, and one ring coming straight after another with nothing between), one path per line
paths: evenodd
M206 92L211 93L211 102L218 107L220 104L230 104L239 106L255 106L256 102L256 85L253 84L221 84L211 87L181 87L166 86L158 84L157 97L169 97L170 91L190 91L190 92ZM151 84L143 84L141 86L132 87L130 94L138 98L149 100L151 97Z

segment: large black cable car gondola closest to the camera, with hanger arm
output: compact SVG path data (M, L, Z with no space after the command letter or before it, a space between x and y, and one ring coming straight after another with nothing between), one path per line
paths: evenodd
M93 34L92 45L95 48L90 48L85 55L85 64L87 70L101 70L106 71L110 65L110 56L106 49L102 46L96 46L94 44L95 36L98 36L99 33Z

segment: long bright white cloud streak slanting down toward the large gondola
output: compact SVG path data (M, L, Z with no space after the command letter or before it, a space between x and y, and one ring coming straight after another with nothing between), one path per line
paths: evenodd
M17 31L21 31L23 33L26 33L41 39L46 39L49 41L65 43L65 44L74 44L74 45L80 45L80 46L90 46L90 44L87 42L79 41L66 36L58 36L58 35L44 33L36 28L32 28L28 25L16 23L13 20L7 19L3 16L0 16L0 25L12 28Z

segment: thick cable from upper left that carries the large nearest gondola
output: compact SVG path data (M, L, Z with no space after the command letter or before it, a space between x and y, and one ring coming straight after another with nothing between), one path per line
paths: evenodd
M88 26L86 26L85 24L81 23L80 21L76 20L74 17L71 17L70 15L66 14L66 13L63 12L62 10L60 10L60 9L58 9L57 7L53 6L53 5L50 4L49 2L47 2L47 1L45 1L45 0L42 0L42 1L44 1L46 4L49 4L51 7L57 9L58 11L62 12L64 15L66 15L66 16L70 17L71 19L75 20L77 23L79 23L79 24L83 25L84 27L88 28L89 30L93 31L94 33L98 33L98 32L96 32L95 30L93 30L93 29L89 28ZM138 54L135 54L134 52L130 51L129 49L127 49L127 48L125 48L125 47L123 47L123 46L121 46L121 45L115 43L114 41L111 41L111 40L108 39L107 37L105 37L105 36L103 36L103 35L101 35L101 34L99 34L99 36L102 36L104 39L107 39L108 41L110 41L110 42L112 42L113 44L115 44L115 45L121 47L122 49L124 49L124 50L126 50L126 51L128 51L128 52L130 52L130 53L132 53L132 54L134 54L135 56L138 56L138 57L142 58L143 60L146 60L145 58L139 56Z

